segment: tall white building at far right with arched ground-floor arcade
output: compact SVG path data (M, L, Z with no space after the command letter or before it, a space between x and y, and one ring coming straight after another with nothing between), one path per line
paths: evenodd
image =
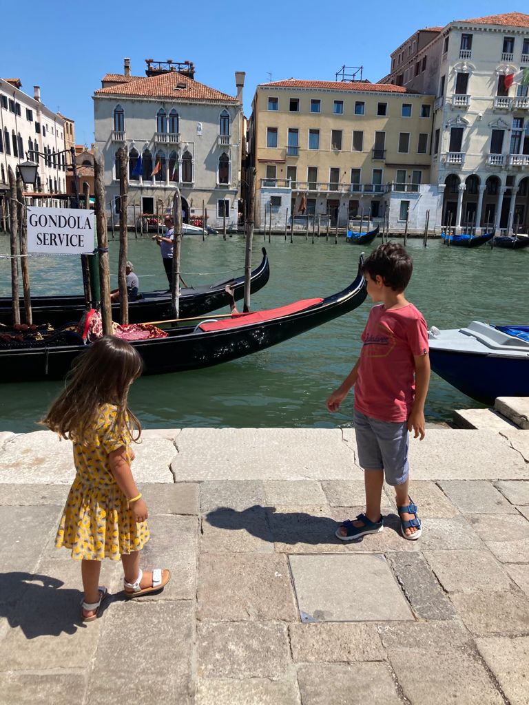
M442 223L527 232L529 15L513 12L418 30L381 82L433 94L432 187ZM509 83L509 80L507 80Z

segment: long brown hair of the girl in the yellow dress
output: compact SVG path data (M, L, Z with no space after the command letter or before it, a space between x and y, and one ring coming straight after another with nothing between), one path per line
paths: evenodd
M61 438L83 443L94 428L104 403L118 407L114 432L141 434L139 420L128 409L128 389L142 372L143 361L132 345L115 336L104 336L78 357L66 379L63 392L49 408L42 424Z

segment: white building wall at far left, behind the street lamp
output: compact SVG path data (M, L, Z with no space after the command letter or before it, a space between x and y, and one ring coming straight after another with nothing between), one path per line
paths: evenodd
M38 86L36 97L30 97L18 84L0 79L0 190L7 188L8 167L16 173L16 165L31 152L28 156L39 164L37 191L48 195L40 204L59 207L64 202L54 194L66 192L66 158L57 154L66 146L64 119L40 102ZM35 150L47 157L38 157Z

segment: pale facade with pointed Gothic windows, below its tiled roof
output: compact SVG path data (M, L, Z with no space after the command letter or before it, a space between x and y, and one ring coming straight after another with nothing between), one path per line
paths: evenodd
M241 105L222 102L178 102L170 100L95 95L95 144L104 155L107 205L119 195L116 153L128 145L129 220L136 212L157 212L171 207L175 185L185 200L186 220L202 216L205 202L208 224L221 227L226 209L226 226L236 227L241 168ZM116 123L116 109L123 124ZM158 131L157 114L175 111L177 121L163 133ZM229 128L227 127L229 121ZM222 121L222 126L221 126ZM116 127L123 127L116 130ZM173 131L167 131L167 130ZM143 174L133 172L133 159L142 155ZM160 163L159 173L152 172ZM225 204L225 205L224 205ZM187 207L186 207L187 206ZM131 221L130 221L131 222Z

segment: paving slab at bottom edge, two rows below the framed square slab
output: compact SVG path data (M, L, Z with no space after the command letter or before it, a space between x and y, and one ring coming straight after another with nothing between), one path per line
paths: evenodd
M303 705L401 705L386 663L300 666Z

